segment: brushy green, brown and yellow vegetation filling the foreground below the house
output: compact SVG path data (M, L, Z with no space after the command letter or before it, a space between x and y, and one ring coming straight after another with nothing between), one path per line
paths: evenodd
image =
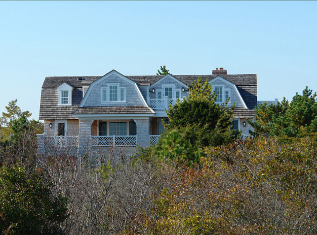
M272 111L280 110L280 103L260 106L253 124L255 137L243 141L227 124L219 129L208 129L213 125L209 121L179 124L186 120L175 118L178 112L193 111L196 105L175 106L157 147L141 149L130 161L120 162L115 161L119 150L109 149L100 156L98 167L91 167L89 153L78 166L74 159L55 152L36 168L36 145L23 142L27 133L30 139L35 136L22 128L10 141L1 141L1 232L27 234L27 225L39 221L33 234L50 228L79 235L315 235L317 109L316 95L306 90L294 102L282 101L287 118ZM295 131L284 132L280 119L297 123L298 117L291 115L295 111L287 111L293 110L297 99L303 99L301 116L313 114L298 122ZM202 101L217 110L212 99ZM230 111L219 117L230 122ZM277 116L262 122L272 112ZM276 127L280 131L272 131ZM267 131L261 133L263 128ZM216 143L212 136L225 137ZM17 177L21 180L14 181ZM34 192L34 187L41 190ZM31 206L34 197L43 198L40 212ZM14 214L10 200L18 201L15 206L27 204L21 210L28 216Z

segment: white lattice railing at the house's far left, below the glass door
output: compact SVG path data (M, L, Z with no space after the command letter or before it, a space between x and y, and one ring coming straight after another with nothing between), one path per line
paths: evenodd
M55 146L79 146L79 136L43 136L44 147L55 147Z

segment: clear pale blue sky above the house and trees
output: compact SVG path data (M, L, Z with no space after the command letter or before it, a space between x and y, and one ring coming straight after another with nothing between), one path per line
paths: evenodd
M257 99L317 91L317 1L0 1L0 114L39 119L46 76L257 74Z

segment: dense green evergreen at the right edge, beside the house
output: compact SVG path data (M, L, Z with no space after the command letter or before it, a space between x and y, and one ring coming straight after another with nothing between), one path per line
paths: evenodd
M293 100L285 98L277 104L260 104L255 108L255 121L250 125L253 136L272 135L295 137L301 133L317 132L316 92L306 87L302 95L296 93Z

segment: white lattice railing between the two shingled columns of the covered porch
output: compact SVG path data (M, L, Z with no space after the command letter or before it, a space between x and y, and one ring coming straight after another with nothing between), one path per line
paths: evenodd
M136 146L136 135L91 136L91 144L93 147Z

